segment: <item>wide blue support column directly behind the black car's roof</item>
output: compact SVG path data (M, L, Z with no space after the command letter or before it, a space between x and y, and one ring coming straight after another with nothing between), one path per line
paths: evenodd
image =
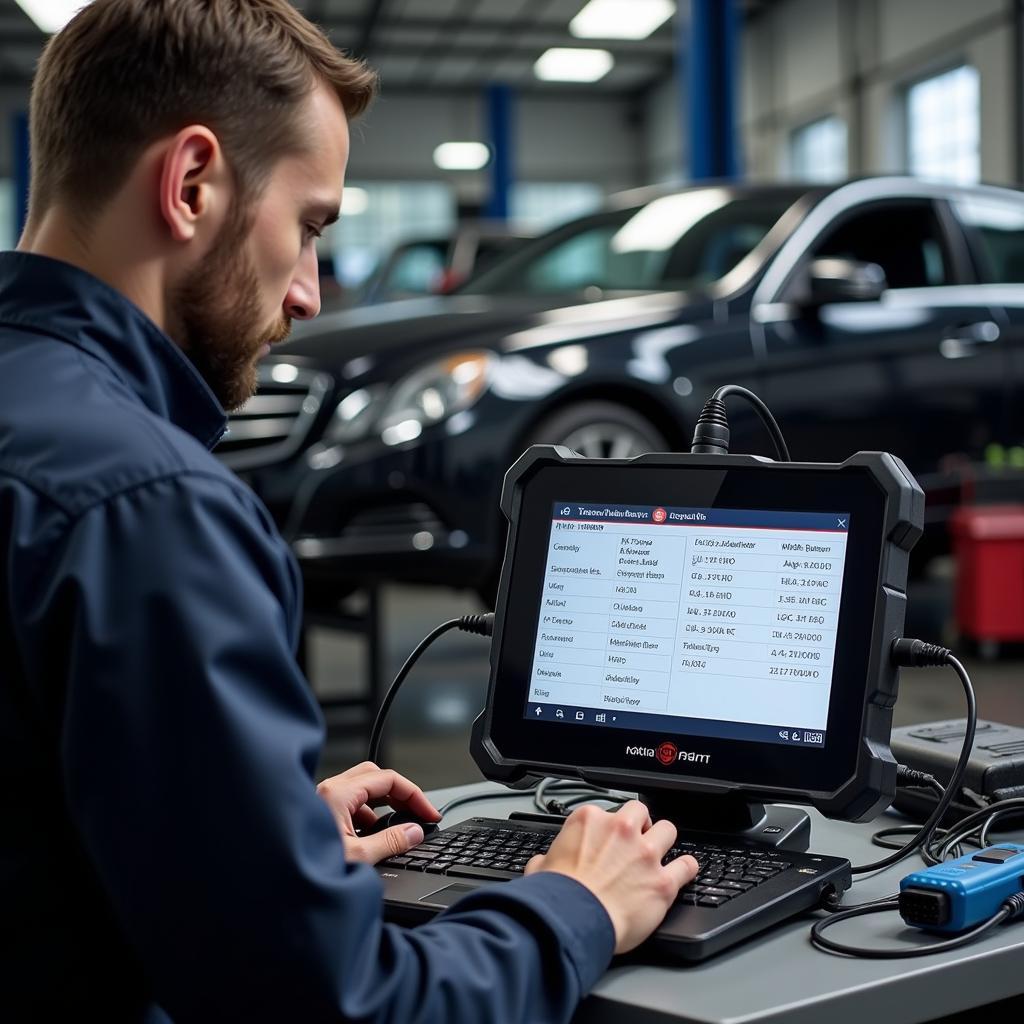
M682 90L686 112L689 177L735 178L740 174L736 119L739 72L738 0L689 0L676 17ZM685 164L684 164L685 166Z

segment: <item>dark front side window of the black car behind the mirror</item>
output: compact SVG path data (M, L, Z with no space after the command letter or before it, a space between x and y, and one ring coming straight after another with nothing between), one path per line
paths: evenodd
M890 288L953 283L942 225L927 200L861 207L827 230L811 256L878 263Z

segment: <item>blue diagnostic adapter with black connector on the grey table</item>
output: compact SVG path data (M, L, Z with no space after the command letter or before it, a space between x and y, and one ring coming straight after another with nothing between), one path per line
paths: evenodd
M1000 843L914 871L900 882L900 916L933 932L963 932L1024 892L1024 846Z

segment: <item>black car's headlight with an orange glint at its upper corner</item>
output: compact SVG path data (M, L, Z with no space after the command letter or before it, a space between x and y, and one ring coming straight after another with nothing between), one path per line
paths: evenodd
M494 352L456 352L428 362L391 389L379 428L388 444L413 440L423 428L469 409L486 389Z

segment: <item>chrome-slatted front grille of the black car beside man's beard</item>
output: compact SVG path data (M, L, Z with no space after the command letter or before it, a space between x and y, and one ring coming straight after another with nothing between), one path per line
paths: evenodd
M260 366L257 379L257 393L230 415L227 433L216 449L218 458L233 470L295 455L332 385L327 374L282 362Z

